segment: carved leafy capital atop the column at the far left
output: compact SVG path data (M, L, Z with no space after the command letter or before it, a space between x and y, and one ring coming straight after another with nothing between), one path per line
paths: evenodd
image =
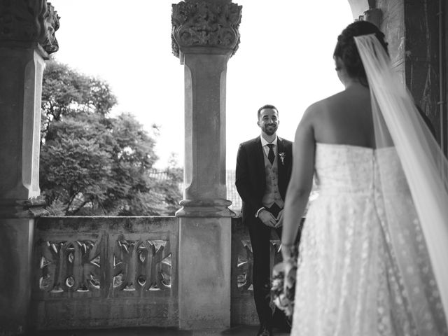
M49 54L59 49L59 15L46 0L0 0L0 42L39 43Z

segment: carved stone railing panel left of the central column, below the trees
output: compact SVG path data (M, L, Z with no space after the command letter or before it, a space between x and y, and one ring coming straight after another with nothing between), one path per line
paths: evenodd
M178 325L177 218L40 218L37 329Z

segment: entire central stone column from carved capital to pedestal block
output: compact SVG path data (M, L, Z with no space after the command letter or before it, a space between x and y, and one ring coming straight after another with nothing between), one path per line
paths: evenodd
M179 326L230 327L231 217L225 190L225 79L239 43L231 0L173 5L174 55L185 69L184 200L179 217Z

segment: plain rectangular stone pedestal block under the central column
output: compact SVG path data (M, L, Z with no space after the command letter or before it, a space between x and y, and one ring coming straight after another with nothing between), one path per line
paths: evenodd
M182 330L230 328L231 227L230 218L179 219Z

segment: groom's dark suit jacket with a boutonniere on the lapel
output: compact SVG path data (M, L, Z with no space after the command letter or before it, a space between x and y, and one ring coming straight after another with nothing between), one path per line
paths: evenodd
M283 163L280 153L285 154ZM266 188L264 155L260 137L239 145L235 185L243 200L243 223L246 225L255 218L258 209L263 207L261 201ZM279 165L279 192L284 201L293 166L293 143L277 137L276 156Z

